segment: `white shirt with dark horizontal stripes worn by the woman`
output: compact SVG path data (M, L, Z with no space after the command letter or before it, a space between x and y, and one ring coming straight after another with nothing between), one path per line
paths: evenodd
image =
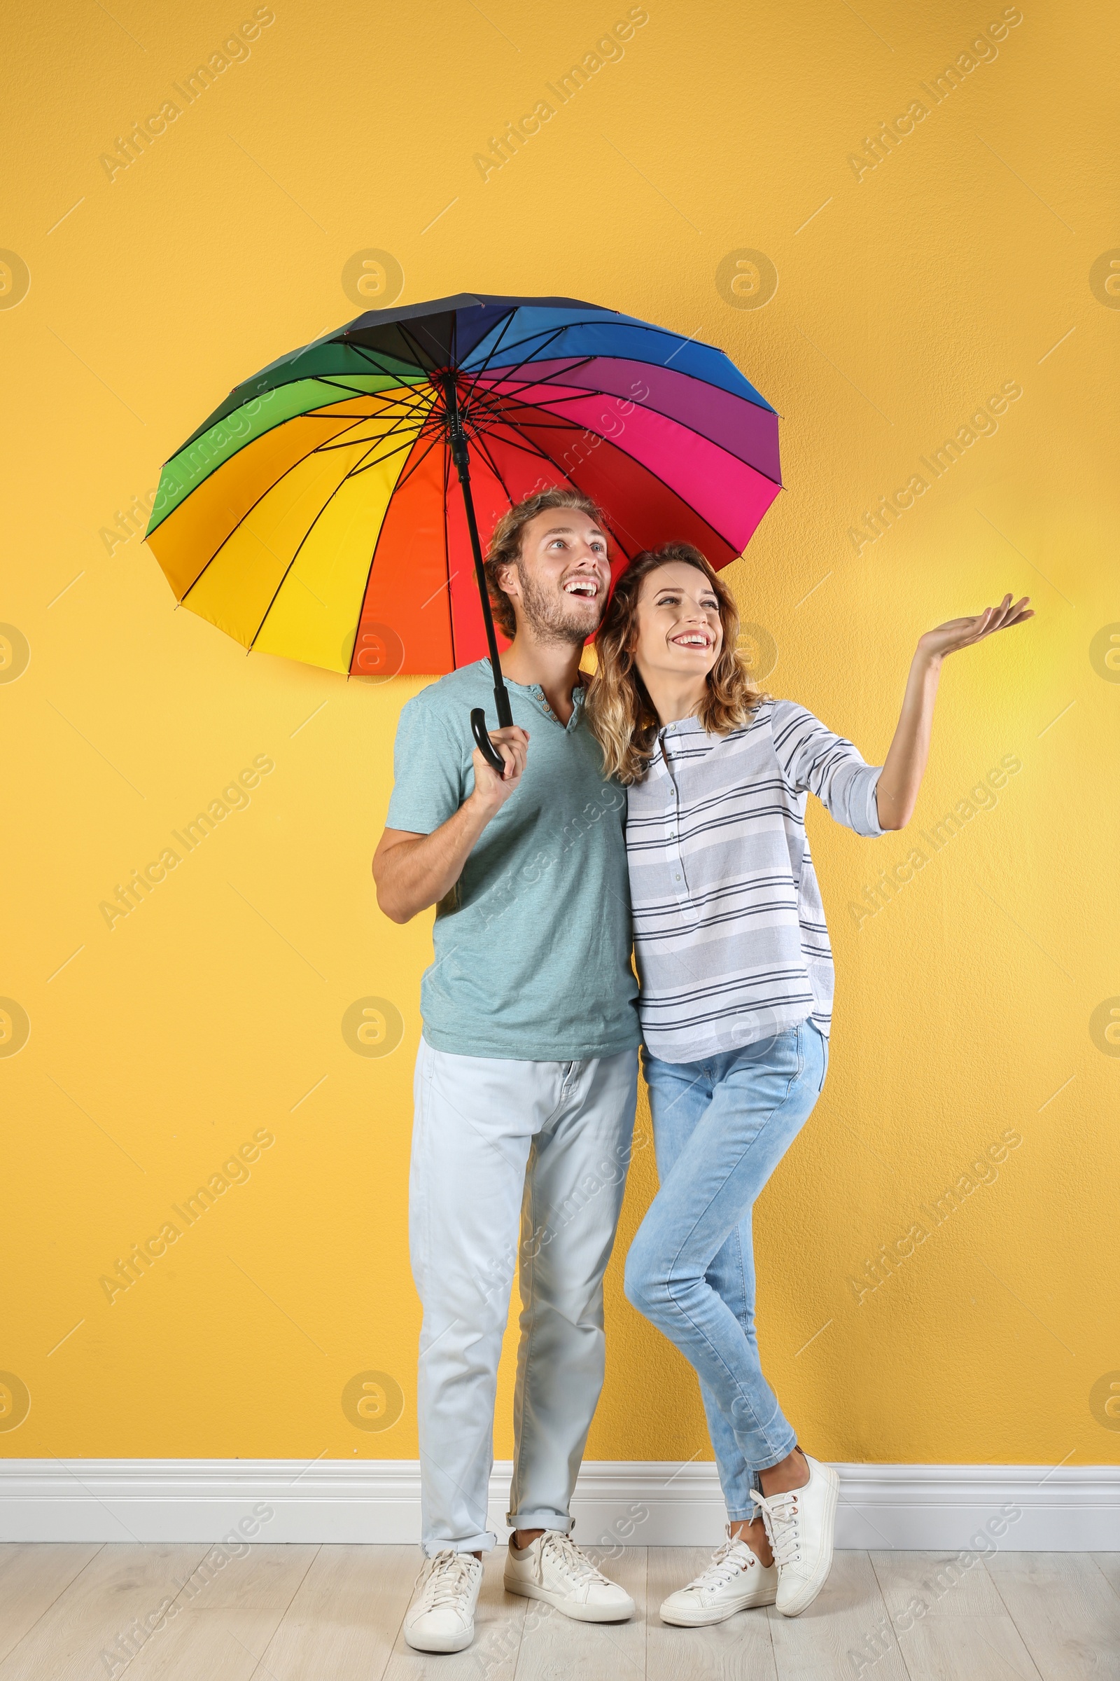
M695 718L660 731L626 814L638 1007L653 1056L697 1062L809 1017L828 1039L833 951L806 795L858 835L882 835L880 773L793 701L762 701L725 736Z

